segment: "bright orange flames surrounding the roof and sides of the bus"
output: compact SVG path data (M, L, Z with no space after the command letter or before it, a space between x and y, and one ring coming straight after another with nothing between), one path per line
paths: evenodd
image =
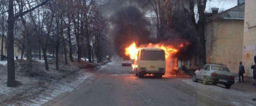
M137 44L135 42L133 42L132 44L130 44L130 46L128 46L127 48L125 48L125 55L126 56L130 56L130 58L132 60L137 60L137 54L138 51L142 48L146 48L146 47L153 47L153 48L160 48L162 50L164 50L165 52L165 58L166 58L166 63L170 62L168 60L171 60L171 57L173 56L173 54L176 54L178 52L178 49L173 48L171 45L164 45L164 44L146 44L146 45L142 45L142 46L137 46ZM182 48L184 47L184 44L180 44L180 46L178 46L178 48ZM136 64L132 64L132 69L134 70L135 68L137 68L138 65ZM167 70L167 68L166 68Z

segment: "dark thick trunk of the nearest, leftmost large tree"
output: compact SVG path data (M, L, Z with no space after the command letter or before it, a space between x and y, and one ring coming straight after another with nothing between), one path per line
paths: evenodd
M8 37L7 37L7 86L15 87L15 68L14 68L14 13L13 0L8 4Z

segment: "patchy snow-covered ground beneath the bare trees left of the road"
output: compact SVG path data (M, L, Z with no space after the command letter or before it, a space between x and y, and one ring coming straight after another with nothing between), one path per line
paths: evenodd
M38 60L34 61L33 69L40 75L28 77L25 61L15 61L16 80L22 83L15 88L6 86L7 68L0 65L0 106L39 106L94 78L94 74L80 69L76 62L69 62L68 66L60 65L60 70L55 70L54 62L51 62L50 71L47 71L44 70L44 64Z

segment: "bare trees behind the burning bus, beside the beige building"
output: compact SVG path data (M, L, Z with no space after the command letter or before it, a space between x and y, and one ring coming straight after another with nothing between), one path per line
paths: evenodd
M154 14L156 37L158 40L169 39L172 30L179 37L189 40L193 45L190 49L199 56L199 64L206 63L204 27L206 24L206 2L208 0L143 0L142 7ZM220 0L221 1L221 0ZM189 48L186 50L188 53ZM184 56L182 56L184 57Z

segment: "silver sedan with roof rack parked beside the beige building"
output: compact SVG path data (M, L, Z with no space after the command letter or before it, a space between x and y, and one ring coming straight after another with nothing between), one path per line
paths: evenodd
M205 64L200 70L196 70L193 75L193 82L202 80L203 84L211 82L213 85L223 84L227 89L234 84L234 74L223 64Z

